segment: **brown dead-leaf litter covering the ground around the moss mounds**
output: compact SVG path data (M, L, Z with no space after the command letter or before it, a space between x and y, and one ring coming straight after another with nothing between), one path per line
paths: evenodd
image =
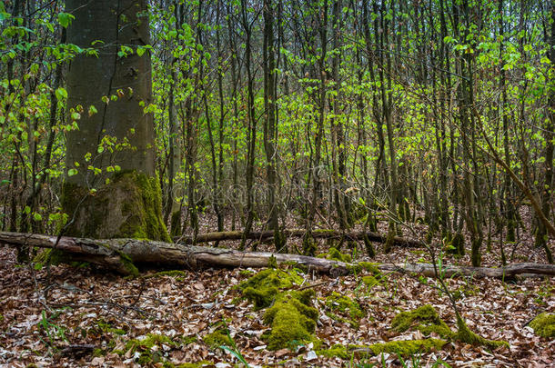
M531 239L519 244L514 252L510 249L514 262L543 263L543 254L527 244L532 244ZM322 246L325 248L326 242ZM270 248L264 244L258 247L259 251L267 249ZM361 254L358 258L368 261ZM371 262L403 264L424 260L429 262L425 250L395 248L391 254L378 254ZM469 256L448 256L443 262L469 264ZM497 252L484 250L483 264L499 265ZM447 295L433 286L433 279L408 274L384 274L372 286L362 282L366 272L338 278L305 274L303 284L313 284L316 292L316 337L322 345L309 343L268 351L262 339L269 328L262 320L264 311L254 311L252 304L238 298L237 285L252 274L248 270L207 269L174 274L156 274L153 270L145 274L152 277L129 279L63 264L35 270L16 264L15 250L0 246L0 367L133 367L140 363L161 367L171 366L169 363L199 363L190 366L220 368L235 366L236 355L241 355L251 367L370 367L383 363L401 366L403 362L406 366L446 363L443 365L452 367L555 364L555 341L537 336L528 326L539 313L555 312L553 277L510 282L491 278L446 280L469 328L485 338L505 340L510 343L509 348L492 351L450 342L441 350L404 359L395 353L364 358L353 354L341 359L318 352L334 344L368 345L423 338L419 331L395 333L390 323L397 313L425 304L431 304L455 331L455 313ZM334 292L358 302L363 311L358 323L329 317L327 301ZM209 346L203 340L226 325L235 353Z

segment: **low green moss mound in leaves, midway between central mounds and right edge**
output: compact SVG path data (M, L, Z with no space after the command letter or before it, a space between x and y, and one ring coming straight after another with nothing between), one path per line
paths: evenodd
M401 312L391 321L391 328L404 333L409 329L419 330L424 335L437 333L443 338L453 337L449 326L439 318L438 312L431 305L423 305L411 312Z

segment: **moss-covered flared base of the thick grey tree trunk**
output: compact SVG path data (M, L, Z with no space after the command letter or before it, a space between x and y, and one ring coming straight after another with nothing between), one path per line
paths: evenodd
M66 182L62 207L70 218L74 218L66 234L95 239L136 238L170 242L162 219L161 197L156 177L136 171L115 174L96 192Z

